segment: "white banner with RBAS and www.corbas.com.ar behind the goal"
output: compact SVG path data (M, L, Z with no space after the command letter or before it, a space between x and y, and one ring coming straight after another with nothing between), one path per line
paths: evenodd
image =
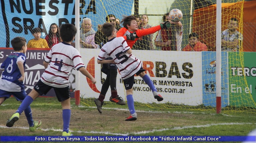
M97 83L80 75L80 94L82 98L98 98L102 83L106 75L101 73L97 57L100 49L80 49L87 70L95 76ZM143 61L155 87L163 96L161 103L184 104L197 106L202 104L202 56L201 52L181 51L150 51L133 50L133 55ZM126 92L121 76L117 73L117 92L125 97ZM141 103L157 102L152 91L141 77L135 77L133 86L134 101ZM110 90L105 99L110 97ZM125 100L125 99L124 99Z

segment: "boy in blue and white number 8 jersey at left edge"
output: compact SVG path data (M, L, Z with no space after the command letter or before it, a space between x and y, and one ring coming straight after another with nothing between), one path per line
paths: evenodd
M23 85L24 67L26 62L25 52L27 51L26 39L15 37L11 40L14 52L11 53L2 63L0 69L4 70L0 79L0 105L13 95L17 101L22 102L27 96ZM41 125L41 121L33 121L30 106L25 108L25 115L28 120L29 130L32 132ZM16 120L14 118L13 120ZM12 127L12 121L6 124Z

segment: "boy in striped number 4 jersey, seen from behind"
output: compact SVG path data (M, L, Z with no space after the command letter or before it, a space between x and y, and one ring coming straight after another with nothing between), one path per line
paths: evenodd
M47 94L48 91L53 88L56 97L62 106L62 136L72 135L69 131L71 110L68 81L72 68L74 67L76 70L79 70L83 75L88 77L92 83L96 83L96 80L86 70L80 53L71 45L75 38L76 31L75 26L72 24L62 24L60 26L60 37L63 42L55 44L48 52L43 61L45 71L40 80L21 103L16 113L14 113L8 120L12 125L19 119L20 114L33 102L33 100L40 95Z

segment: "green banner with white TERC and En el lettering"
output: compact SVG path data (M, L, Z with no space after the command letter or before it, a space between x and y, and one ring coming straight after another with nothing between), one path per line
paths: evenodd
M229 98L232 106L256 107L255 57L255 52L229 52Z

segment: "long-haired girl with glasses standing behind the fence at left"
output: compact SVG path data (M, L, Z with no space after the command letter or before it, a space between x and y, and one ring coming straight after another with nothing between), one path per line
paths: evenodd
M53 45L61 42L60 35L59 35L59 27L56 23L51 24L48 35L44 38L48 46L51 48Z

